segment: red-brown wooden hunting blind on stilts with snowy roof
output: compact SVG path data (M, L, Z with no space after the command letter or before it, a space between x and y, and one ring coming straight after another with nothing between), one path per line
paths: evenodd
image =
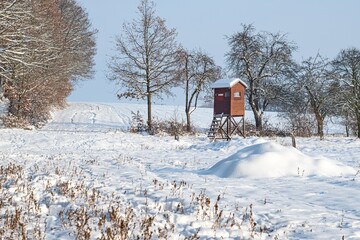
M214 89L214 116L208 137L230 140L238 133L245 137L245 89L239 78L220 79L212 86Z

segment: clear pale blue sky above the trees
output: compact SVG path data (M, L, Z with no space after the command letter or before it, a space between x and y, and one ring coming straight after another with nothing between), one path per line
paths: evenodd
M78 0L98 29L96 74L81 81L69 96L70 102L119 102L117 86L106 79L106 62L114 54L114 38L124 22L137 17L139 1ZM344 48L360 48L359 0L155 0L157 15L176 28L177 40L187 49L201 48L216 63L226 67L229 50L225 36L253 24L258 31L287 33L297 44L298 61L320 52L333 58ZM158 103L182 104L178 96Z

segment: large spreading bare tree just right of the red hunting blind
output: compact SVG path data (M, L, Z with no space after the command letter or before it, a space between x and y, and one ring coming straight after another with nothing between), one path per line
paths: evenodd
M256 129L262 130L264 111L279 97L281 81L292 65L296 46L280 33L255 32L243 25L240 32L228 37L227 63L234 75L248 82L246 95L254 113ZM280 83L279 83L280 82Z

